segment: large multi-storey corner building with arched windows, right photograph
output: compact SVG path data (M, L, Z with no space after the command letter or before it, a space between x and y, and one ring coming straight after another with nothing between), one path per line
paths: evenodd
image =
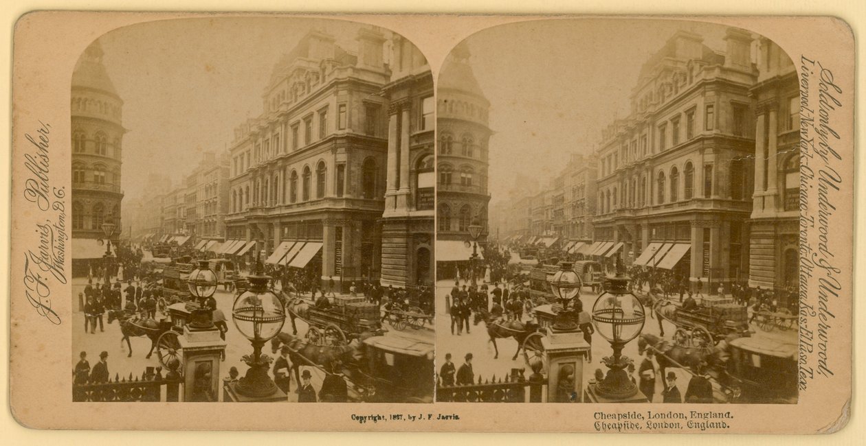
M667 268L692 284L745 280L752 213L753 98L748 33L724 53L677 32L644 64L631 112L603 131L594 239L622 242L627 264ZM663 255L663 257L662 257ZM661 262L659 262L659 260Z

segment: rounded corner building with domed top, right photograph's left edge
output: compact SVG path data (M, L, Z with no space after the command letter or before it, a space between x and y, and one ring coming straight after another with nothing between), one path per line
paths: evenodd
M437 262L469 260L472 249L465 242L476 217L484 226L479 244L487 239L490 103L475 80L469 56L467 44L458 44L445 60L437 86Z

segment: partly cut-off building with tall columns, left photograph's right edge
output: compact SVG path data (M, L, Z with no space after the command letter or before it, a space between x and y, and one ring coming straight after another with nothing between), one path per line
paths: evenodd
M385 286L433 284L436 137L433 75L421 51L399 35L391 39L388 157L382 226Z

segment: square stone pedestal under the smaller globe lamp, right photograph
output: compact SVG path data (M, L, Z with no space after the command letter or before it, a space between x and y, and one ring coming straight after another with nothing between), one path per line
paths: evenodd
M547 402L583 402L584 361L590 354L583 333L551 329L541 344L547 360Z

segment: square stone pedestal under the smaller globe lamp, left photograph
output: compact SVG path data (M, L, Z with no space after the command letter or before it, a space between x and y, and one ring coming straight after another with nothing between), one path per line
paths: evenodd
M219 330L193 331L184 327L184 335L178 341L184 352L184 401L218 401L220 362L226 346Z

